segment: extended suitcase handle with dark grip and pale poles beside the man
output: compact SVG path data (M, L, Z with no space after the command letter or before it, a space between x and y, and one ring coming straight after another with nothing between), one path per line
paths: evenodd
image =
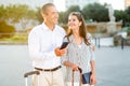
M28 86L28 76L31 76L31 75L34 75L34 74L39 75L40 72L39 72L39 71L30 71L30 72L26 72L26 73L24 74L24 77L25 77L25 86ZM38 77L38 78L39 78L39 77ZM37 80L37 81L39 82L39 80ZM38 83L38 86L39 86L39 83Z

